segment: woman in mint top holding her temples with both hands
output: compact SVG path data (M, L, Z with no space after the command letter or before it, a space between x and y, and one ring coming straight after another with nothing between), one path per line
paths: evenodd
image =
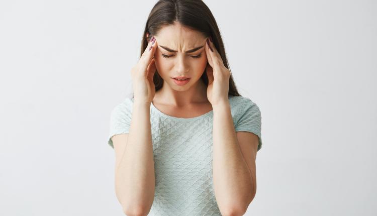
M256 192L261 115L237 91L208 7L158 1L131 76L134 95L112 111L108 140L124 213L244 214Z

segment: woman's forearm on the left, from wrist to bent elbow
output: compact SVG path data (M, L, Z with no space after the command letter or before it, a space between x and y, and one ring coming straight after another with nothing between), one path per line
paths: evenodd
M126 149L116 169L116 192L123 209L149 210L155 177L150 104L134 103Z

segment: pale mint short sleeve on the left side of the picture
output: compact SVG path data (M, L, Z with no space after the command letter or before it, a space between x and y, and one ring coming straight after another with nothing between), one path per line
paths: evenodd
M128 134L131 125L132 105L126 101L116 105L110 115L110 133L108 144L114 149L112 137L117 134Z

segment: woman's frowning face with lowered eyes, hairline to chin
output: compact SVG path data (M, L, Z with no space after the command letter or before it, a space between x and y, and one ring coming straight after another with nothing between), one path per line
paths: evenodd
M155 38L158 45L154 53L156 69L170 88L185 91L201 81L208 62L205 51L207 38L203 34L174 24L163 27ZM172 78L177 76L190 79L186 84L178 85Z

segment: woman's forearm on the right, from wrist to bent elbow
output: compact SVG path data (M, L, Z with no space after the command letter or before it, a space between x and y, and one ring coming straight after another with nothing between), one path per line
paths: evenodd
M253 179L238 145L229 102L213 106L213 184L222 213L244 213Z

